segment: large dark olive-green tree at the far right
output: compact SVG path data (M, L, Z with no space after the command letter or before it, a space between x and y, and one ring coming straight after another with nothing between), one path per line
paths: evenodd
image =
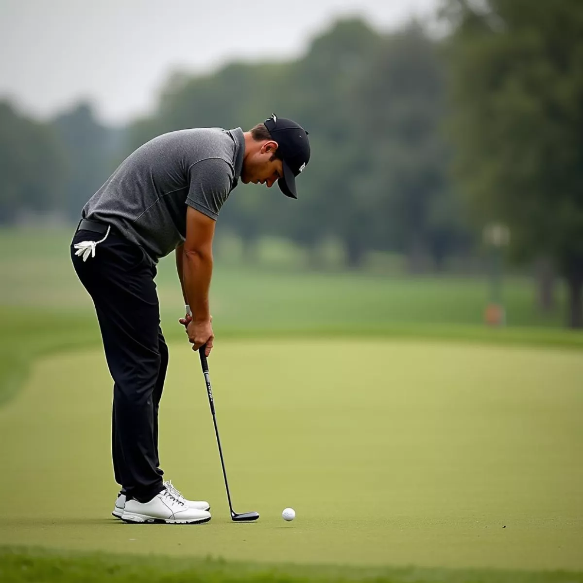
M455 176L517 259L554 259L583 327L583 3L450 0Z

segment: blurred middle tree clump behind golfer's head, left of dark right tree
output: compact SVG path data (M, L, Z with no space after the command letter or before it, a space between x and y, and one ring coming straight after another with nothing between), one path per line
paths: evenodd
M349 266L367 251L419 250L442 265L465 240L440 135L444 65L422 27L381 34L339 20L303 57L233 63L215 73L175 73L156 113L132 125L132 147L163 132L212 125L249 129L276 113L310 132L300 199L238 188L221 224L248 244L269 234L310 248L342 241Z

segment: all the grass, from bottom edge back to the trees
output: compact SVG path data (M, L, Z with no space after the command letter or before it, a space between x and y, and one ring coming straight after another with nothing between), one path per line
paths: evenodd
M130 535L108 514L111 381L70 238L0 231L0 580L582 580L583 335L561 329L563 290L540 315L531 282L508 280L511 325L488 329L482 279L217 257L209 363L236 509L262 514L245 526L225 512L172 258L161 262L163 467L211 498L213 520Z

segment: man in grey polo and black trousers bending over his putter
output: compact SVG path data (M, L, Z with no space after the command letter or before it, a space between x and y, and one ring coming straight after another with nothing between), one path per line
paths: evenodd
M114 381L112 454L121 491L113 515L126 522L210 520L206 501L163 481L158 408L168 366L154 277L175 251L193 350L213 347L209 310L212 242L219 211L238 181L278 182L296 195L310 160L307 132L272 115L241 128L183 129L152 139L125 159L83 207L71 259L95 305Z

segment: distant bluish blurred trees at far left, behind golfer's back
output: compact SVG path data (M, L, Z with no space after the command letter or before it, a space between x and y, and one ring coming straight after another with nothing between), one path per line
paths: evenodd
M86 103L40 122L0 101L0 225L48 212L78 220L127 154L126 135L103 127Z

